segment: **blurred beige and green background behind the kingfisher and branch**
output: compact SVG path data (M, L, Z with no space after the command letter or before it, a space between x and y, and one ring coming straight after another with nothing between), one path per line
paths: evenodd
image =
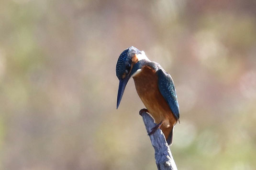
M144 50L175 82L179 170L256 169L255 0L1 0L0 169L156 170L115 65Z

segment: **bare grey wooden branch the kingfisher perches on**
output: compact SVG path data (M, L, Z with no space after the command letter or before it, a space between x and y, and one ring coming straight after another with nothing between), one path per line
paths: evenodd
M141 113L147 133L156 126L154 119L145 111ZM166 142L165 136L161 129L149 136L152 146L155 149L156 166L158 170L177 170L176 164L171 154L171 150Z

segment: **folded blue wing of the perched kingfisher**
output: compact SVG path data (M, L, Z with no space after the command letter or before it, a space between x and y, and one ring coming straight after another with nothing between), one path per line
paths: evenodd
M166 99L169 107L172 110L174 116L179 119L179 106L177 93L172 81L170 74L163 71L162 69L157 70L156 74L158 75L158 88L160 93Z

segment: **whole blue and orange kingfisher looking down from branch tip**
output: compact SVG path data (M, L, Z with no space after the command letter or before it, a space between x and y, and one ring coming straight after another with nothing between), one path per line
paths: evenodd
M179 106L176 89L170 74L160 64L150 61L144 51L131 46L124 50L116 64L119 79L117 108L129 79L133 77L138 96L155 120L156 127L148 135L160 128L168 145L172 144L173 128L179 122Z

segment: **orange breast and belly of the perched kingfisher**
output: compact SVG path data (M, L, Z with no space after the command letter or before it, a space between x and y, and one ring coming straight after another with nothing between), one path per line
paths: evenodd
M165 127L173 127L177 120L158 89L156 71L145 66L133 78L137 93L155 122L163 121Z

